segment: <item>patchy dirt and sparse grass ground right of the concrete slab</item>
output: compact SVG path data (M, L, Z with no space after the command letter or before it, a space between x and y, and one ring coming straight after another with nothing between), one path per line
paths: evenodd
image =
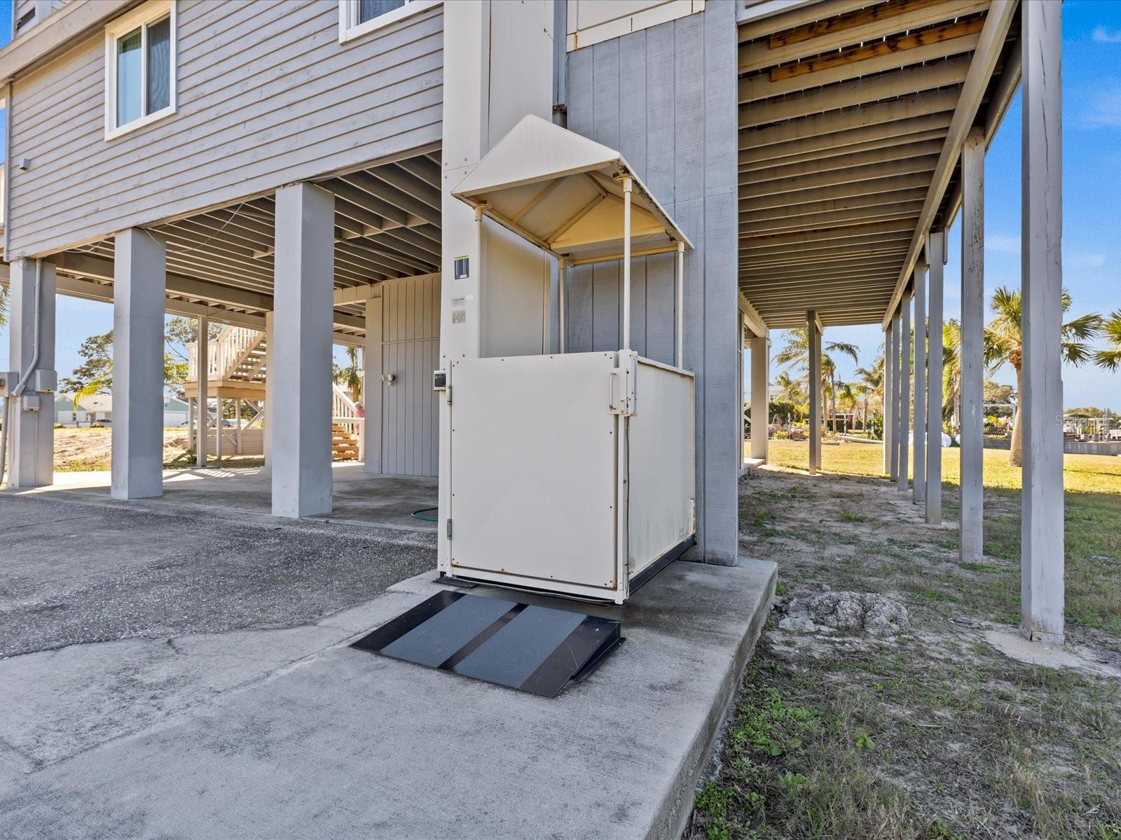
M1075 668L1004 655L1018 562L960 562L954 526L882 479L757 469L740 523L740 551L779 566L778 605L687 838L1121 840L1121 638L1069 625ZM810 604L826 591L907 620L833 620L834 599Z

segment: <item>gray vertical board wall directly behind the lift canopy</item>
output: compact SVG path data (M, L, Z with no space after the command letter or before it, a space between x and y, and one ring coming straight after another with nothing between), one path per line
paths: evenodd
M685 258L685 366L696 375L698 556L732 563L741 456L736 304L735 6L568 54L568 128L619 149L695 245ZM634 261L632 346L674 362L673 255ZM568 271L568 349L612 349L618 265Z

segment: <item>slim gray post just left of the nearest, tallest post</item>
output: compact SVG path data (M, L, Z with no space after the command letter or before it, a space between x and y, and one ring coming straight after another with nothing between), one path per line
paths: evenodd
M1031 3L1028 3L1031 6ZM984 131L973 129L962 149L962 512L958 554L984 554Z

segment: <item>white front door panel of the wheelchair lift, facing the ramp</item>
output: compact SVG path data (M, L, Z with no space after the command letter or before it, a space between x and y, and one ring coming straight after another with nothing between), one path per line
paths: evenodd
M615 353L452 365L453 575L617 588Z

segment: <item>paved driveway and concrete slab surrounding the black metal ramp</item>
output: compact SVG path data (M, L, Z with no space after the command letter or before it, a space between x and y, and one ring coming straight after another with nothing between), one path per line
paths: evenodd
M679 837L775 588L677 562L626 607L521 596L627 634L546 699L348 646L439 589L430 532L3 493L0 535L19 840Z

